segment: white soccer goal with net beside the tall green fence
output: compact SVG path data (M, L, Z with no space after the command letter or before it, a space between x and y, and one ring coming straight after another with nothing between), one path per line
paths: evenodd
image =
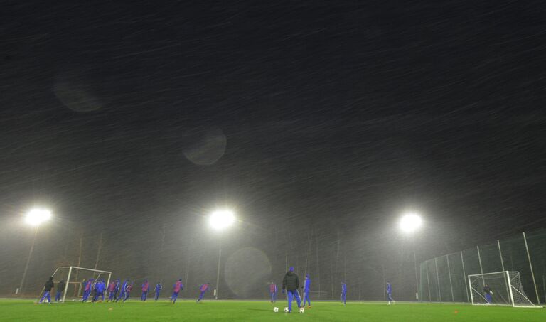
M521 285L520 272L503 271L469 275L472 305L505 305L540 308L530 301Z

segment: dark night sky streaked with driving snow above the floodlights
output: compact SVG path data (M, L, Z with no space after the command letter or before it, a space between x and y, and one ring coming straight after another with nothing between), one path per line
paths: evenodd
M545 225L541 1L49 2L2 4L8 258L33 203L61 235L227 204L363 253L414 209L423 258Z

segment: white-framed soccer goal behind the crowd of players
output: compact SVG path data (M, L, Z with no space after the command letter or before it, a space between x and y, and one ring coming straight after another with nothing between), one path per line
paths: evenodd
M60 281L65 281L65 289L63 291L64 302L67 298L72 301L80 299L83 293L83 282L88 279L95 279L97 281L97 279L102 278L105 279L106 285L108 285L112 278L112 272L85 267L63 266L57 267L51 276L53 277L55 287ZM95 281L93 281L92 286L95 286Z

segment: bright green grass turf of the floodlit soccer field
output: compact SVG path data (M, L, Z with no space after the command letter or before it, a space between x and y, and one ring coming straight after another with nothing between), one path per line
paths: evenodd
M279 307L279 313L273 307ZM468 304L315 302L304 313L282 312L284 301L127 301L126 303L36 304L0 300L0 321L546 321L546 310Z

